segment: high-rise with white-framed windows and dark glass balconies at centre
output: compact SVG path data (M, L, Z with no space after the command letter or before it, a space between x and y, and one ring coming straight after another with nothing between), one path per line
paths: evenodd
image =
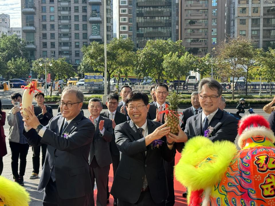
M149 39L178 40L178 0L119 0L117 36L130 37L137 49Z

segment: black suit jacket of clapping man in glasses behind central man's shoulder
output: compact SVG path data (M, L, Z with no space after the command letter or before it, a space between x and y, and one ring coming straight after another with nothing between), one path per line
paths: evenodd
M100 115L103 117L109 118L108 111L101 112ZM126 122L127 116L121 112L116 111L114 120L115 120L115 124L118 125L123 122ZM115 144L115 129L113 129L113 138L112 138L112 141L110 142L110 152L112 155L119 155L119 150L117 148L117 145Z

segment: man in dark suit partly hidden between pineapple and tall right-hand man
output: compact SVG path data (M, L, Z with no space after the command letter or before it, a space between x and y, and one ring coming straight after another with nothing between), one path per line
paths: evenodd
M191 104L192 106L189 108L186 108L182 111L182 124L181 124L181 128L185 128L186 125L186 121L189 117L198 114L199 110L201 110L201 105L199 102L199 93L198 92L193 92L191 94Z

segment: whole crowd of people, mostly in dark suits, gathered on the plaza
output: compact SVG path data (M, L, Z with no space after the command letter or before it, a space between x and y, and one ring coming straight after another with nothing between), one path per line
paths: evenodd
M150 103L146 93L132 91L128 85L121 88L120 102L118 94L108 95L105 112L102 101L91 98L88 117L82 111L84 95L76 86L64 88L56 116L44 104L42 92L35 94L37 105L25 108L27 115L20 111L21 94L13 93L14 107L7 113L13 179L24 185L26 157L32 146L33 173L29 178L39 177L42 151L38 191L45 189L44 206L94 206L95 182L98 206L109 203L110 193L113 205L172 206L176 151L181 152L184 143L194 136L206 136L213 142L235 141L238 119L224 110L222 90L213 78L201 80L198 91L191 94L192 106L182 111L178 135L170 132L161 112L169 104L169 88L164 83L151 87ZM271 107L274 102L275 98L264 110L275 110ZM272 113L271 127L275 126L275 111ZM1 110L1 101L0 115L1 174L3 156L7 154L3 129L6 114ZM152 145L155 141L161 142L158 148ZM109 189L111 164L114 179ZM186 197L186 193L182 195Z

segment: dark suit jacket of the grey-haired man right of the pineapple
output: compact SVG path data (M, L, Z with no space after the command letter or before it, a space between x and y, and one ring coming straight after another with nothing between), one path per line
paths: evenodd
M187 119L184 132L187 134L188 139L193 136L202 135L202 112L191 116ZM217 113L213 116L209 126L214 127L214 131L209 137L213 142L217 140L235 141L237 136L238 121L233 116L218 109Z

